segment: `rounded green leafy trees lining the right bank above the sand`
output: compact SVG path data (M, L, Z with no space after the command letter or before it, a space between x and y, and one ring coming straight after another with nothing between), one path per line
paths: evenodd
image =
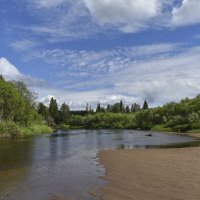
M154 127L179 132L200 129L200 95L183 99L179 103L170 102L162 107L140 111L135 115L135 124L143 130Z

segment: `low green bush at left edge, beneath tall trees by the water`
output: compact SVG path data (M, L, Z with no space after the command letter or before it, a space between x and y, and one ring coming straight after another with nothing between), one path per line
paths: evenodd
M11 121L0 122L0 137L16 137L20 135L20 128Z

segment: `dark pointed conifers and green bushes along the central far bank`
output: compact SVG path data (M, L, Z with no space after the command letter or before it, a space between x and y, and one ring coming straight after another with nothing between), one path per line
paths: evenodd
M147 110L148 103L145 100L141 106L134 103L130 107L124 105L122 100L105 108L100 103L94 111L86 105L85 110L70 111L69 106L63 103L59 108L56 99L51 98L49 106L38 104L38 113L43 116L49 126L61 128L134 128L135 113Z

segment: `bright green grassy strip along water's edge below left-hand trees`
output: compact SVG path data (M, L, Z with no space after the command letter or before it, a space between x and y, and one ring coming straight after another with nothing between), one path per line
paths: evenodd
M0 122L0 138L47 134L52 132L53 129L45 124L32 124L28 127L22 127L12 121Z

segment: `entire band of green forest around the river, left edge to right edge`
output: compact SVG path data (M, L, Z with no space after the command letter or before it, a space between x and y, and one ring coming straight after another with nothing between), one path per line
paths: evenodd
M0 137L51 133L53 129L134 129L165 132L200 132L200 95L149 108L145 100L124 105L121 100L93 110L71 111L52 98L49 106L37 103L36 95L21 81L0 76Z

